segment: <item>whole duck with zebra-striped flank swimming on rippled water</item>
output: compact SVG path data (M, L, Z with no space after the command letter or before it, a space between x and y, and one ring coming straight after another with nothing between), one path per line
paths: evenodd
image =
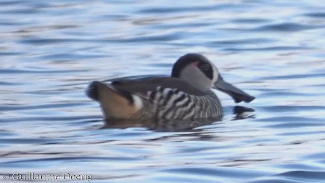
M106 120L195 120L223 115L213 89L228 94L235 103L255 99L224 81L216 66L200 53L179 57L170 76L116 78L109 83L92 81L86 95L99 102Z

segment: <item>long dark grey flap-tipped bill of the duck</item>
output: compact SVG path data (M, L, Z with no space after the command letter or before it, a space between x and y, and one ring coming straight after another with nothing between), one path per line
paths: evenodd
M232 84L225 82L221 76L219 76L219 79L217 82L214 83L214 88L220 90L221 92L224 92L231 96L236 103L239 102L251 102L255 99L255 97L248 95L243 90L239 89L236 86L233 86Z

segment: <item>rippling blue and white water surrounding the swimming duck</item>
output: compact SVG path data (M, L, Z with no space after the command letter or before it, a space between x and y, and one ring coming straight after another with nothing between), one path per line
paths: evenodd
M325 182L323 1L3 0L0 15L2 175ZM255 96L239 104L252 110L218 93L214 123L105 125L84 94L92 80L170 74L188 52Z

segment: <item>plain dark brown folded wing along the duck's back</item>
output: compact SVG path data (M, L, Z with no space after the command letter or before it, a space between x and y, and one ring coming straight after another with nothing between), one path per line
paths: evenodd
M111 85L117 89L124 90L133 94L147 95L147 92L156 90L157 87L177 88L180 91L196 96L202 96L206 93L193 87L188 82L173 77L144 77L137 79L116 79Z

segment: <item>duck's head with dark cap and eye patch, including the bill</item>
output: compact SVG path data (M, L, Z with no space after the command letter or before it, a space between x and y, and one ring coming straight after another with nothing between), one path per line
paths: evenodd
M208 58L198 53L187 53L173 66L172 77L181 78L202 90L215 88L230 95L236 103L251 102L255 98L243 90L225 82L218 69Z

